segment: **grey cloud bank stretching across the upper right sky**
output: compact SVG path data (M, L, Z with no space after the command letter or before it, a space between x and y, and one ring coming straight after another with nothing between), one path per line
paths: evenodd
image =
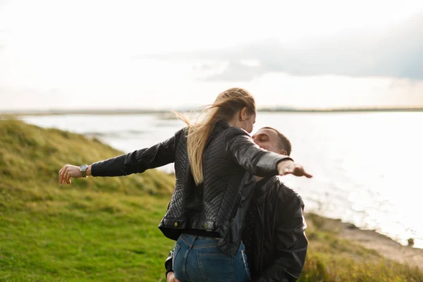
M384 30L349 30L281 44L266 39L226 49L150 55L155 59L202 60L200 80L252 80L265 73L423 79L423 13ZM245 64L245 60L257 63ZM212 72L216 61L223 71ZM210 74L212 73L212 74Z

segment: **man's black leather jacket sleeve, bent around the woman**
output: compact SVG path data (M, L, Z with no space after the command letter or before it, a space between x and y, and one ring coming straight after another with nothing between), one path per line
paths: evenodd
M283 204L278 202L276 208L274 263L264 269L257 282L291 282L300 278L307 254L307 226L302 214L304 204L301 197L292 190L289 194L290 197Z

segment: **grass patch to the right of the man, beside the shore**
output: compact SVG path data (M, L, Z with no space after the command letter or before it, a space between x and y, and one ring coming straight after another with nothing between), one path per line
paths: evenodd
M306 214L309 249L301 282L420 282L417 267L386 259L337 235L331 220Z

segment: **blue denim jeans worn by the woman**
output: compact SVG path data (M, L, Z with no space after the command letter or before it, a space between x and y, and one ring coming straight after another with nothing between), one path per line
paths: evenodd
M182 234L173 252L173 271L180 282L246 282L250 281L244 245L235 257L217 247L219 238Z

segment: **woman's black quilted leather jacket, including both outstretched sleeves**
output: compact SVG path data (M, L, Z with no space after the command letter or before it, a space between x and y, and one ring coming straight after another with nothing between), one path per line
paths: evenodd
M187 128L153 147L92 164L92 176L125 176L175 163L176 187L159 224L167 238L184 230L219 233L219 249L238 250L256 176L275 176L277 164L290 159L259 148L245 130L216 123L203 153L204 182L196 186L187 153Z

